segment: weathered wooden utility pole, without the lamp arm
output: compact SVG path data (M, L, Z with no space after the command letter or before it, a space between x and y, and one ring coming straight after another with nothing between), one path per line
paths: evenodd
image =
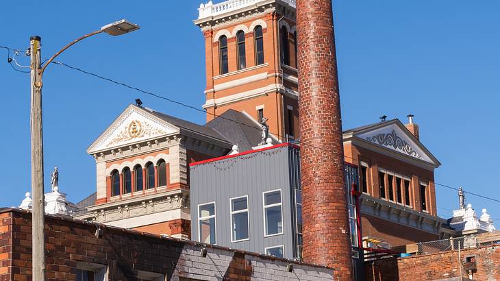
M42 67L39 36L29 38L31 56L32 264L33 280L45 280L45 198L43 186Z

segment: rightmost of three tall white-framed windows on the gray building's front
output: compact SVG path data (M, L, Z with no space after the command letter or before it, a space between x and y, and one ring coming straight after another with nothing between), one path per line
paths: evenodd
M283 234L282 190L262 193L264 201L264 237Z

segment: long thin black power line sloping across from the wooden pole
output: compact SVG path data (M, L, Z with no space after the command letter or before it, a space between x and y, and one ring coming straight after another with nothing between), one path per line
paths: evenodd
M14 49L14 48L10 48L10 47L4 47L4 46L0 46L0 47L3 47L3 48L8 49L8 50L10 49L10 50L13 50L13 51L21 51L21 50ZM170 99L170 98L168 98L168 97L164 97L164 96L162 96L162 95L158 95L158 94L155 94L155 93L149 92L149 91L147 91L147 90L142 90L142 89L137 88L137 87L134 87L134 86L129 86L128 84L125 84L125 83L122 83L122 82L118 82L118 81L116 81L116 80L112 80L111 78L108 78L108 77L103 77L102 75L98 75L98 74L96 74L96 73L92 73L92 72L90 72L90 71L85 71L85 70L83 70L83 69L79 69L79 68L78 68L78 67L76 67L76 66L71 66L71 65L66 64L66 63L64 63L64 62L56 62L56 61L53 61L52 63L53 63L53 64L58 64L58 65L62 65L62 66L66 66L66 67L68 67L69 69L73 69L73 70L76 70L76 71L80 71L80 72L85 73L85 74L87 74L87 75L91 75L91 76L97 77L97 78L99 78L99 79L101 79L101 80L105 80L105 81L108 81L108 82L112 82L113 84L117 84L117 85L120 85L120 86L124 86L125 88L129 88L129 89L131 89L131 90L137 90L137 91L138 91L138 92L140 92L140 93L144 93L144 94L146 94L146 95L151 95L151 96L156 97L156 98L158 98L158 99L164 99L164 100L169 101L169 102L171 102L171 103L178 104L179 106L184 106L185 108L190 108L190 109L192 109L192 110L196 110L197 112L202 112L202 113L205 113L205 114L210 114L210 115L212 115L213 117L218 117L218 118L221 118L221 119L223 119L223 120L227 120L227 121L231 121L231 122L234 122L234 123L238 123L238 124L240 124L240 125L245 125L245 126L247 126L247 127L250 127L250 128L252 128L252 129L255 129L255 130L259 130L259 131L260 131L260 130L262 130L260 127L255 127L255 126L252 126L252 125L248 125L248 124L246 124L246 123L242 123L242 122L240 122L240 121L236 121L236 120L233 120L233 119L229 119L229 118L223 117L223 116L221 116L221 115L218 115L218 114L215 114L215 113L212 113L212 112L208 112L207 110L201 110L201 109L199 109L199 108L197 108L197 107L195 107L195 106L190 106L190 105L188 105L188 104L186 104L186 103L182 103L181 101L175 101L174 99ZM12 66L12 67L13 67L13 66ZM18 70L16 69L16 71L18 71ZM21 72L24 72L24 71L21 71ZM275 135L275 136L277 136L278 138L285 138L284 136L282 136L282 135L280 135L280 134L275 134L275 133L273 133L273 132L269 132L269 133L270 133L270 134L273 134L273 135ZM313 147L313 148L315 148L315 149L321 149L321 150L323 150L323 151L331 152L331 150L330 150L330 149L325 149L325 148L323 148L323 147L317 147L317 146L315 146L315 145L310 145L310 144L308 144L308 143L299 142L299 144L300 144L300 145L310 146L310 147ZM355 158L352 158L352 157L350 157L350 156L344 156L344 157L345 157L345 158L350 158L351 160L355 160ZM446 185L446 184L440 184L440 183L438 183L438 182L434 182L434 184L436 184L436 185L438 185L438 186L443 186L443 187L446 187L446 188L450 188L450 189L453 189L453 190L455 190L455 191L458 191L458 188L455 188L455 187L452 187L452 186L448 186L448 185ZM482 197L482 198L484 198L484 199L488 199L488 200L491 200L491 201L500 202L500 200L499 200L499 199L495 199L495 198L487 197L487 196L484 196L484 195L479 195L479 194L477 194L477 193L471 193L471 192L469 192L469 191L464 191L464 193L468 193L468 194L471 194L471 195L475 195L475 196L477 196L477 197Z

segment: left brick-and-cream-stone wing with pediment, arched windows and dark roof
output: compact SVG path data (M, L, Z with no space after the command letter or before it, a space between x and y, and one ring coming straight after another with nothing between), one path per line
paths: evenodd
M188 239L188 163L231 147L210 128L131 105L87 149L95 204L75 218Z

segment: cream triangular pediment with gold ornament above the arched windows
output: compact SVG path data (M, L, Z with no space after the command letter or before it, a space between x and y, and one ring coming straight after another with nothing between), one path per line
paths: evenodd
M179 132L179 128L154 117L142 108L129 106L88 148L88 153L121 147Z

